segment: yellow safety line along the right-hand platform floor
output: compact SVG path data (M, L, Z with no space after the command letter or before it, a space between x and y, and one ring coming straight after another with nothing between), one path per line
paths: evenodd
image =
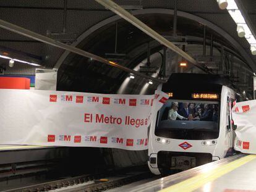
M256 158L256 155L249 155L249 156L242 157L241 159L237 159L236 161L229 162L228 164L217 167L216 169L212 169L208 171L205 170L204 173L200 173L199 175L189 178L184 182L180 182L173 186L169 186L168 188L160 190L160 192L194 191L197 188L200 188L201 186L203 186L205 183L211 182L216 178L219 178L225 175L226 173L229 173L232 170L237 169L238 167L241 167L244 164L247 164L247 162L250 162L255 158ZM210 169L210 167L208 168ZM205 169L207 169L207 167Z

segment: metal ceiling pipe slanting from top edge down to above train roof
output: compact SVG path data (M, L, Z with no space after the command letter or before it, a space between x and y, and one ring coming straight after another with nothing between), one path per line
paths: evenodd
M100 3L102 6L105 6L107 9L112 10L114 13L116 13L117 15L122 17L122 19L127 20L127 22L132 23L132 25L134 25L135 27L139 28L144 33L146 33L147 35L151 36L151 38L155 39L156 41L158 41L159 43L163 44L167 48L173 50L174 52L176 52L180 56L184 57L187 61L189 61L190 63L194 64L199 69L202 69L203 71L208 72L208 73L212 73L207 68L205 68L202 65L198 64L197 61L195 61L195 59L193 57L189 56L189 54L187 54L186 52L184 52L181 49L177 48L177 46L175 46L173 43L171 43L170 41L166 40L166 38L161 36L155 30L153 30L150 27L148 27L147 25L145 25L145 23L141 22L139 19L134 17L134 15L130 14L129 12L127 12L127 10L122 9L122 7L117 5L115 2L113 2L111 0L95 0L95 1Z

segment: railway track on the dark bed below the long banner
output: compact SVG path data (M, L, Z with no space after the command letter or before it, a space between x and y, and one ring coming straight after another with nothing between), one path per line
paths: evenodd
M150 177L154 176L148 171L81 175L79 177L70 177L53 182L6 190L4 192L105 191Z

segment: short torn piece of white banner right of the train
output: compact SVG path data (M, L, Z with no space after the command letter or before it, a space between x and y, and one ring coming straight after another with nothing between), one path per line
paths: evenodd
M237 102L232 111L237 125L234 149L256 154L256 101Z

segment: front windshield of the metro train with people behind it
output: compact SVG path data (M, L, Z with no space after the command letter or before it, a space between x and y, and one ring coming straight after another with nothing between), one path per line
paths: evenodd
M155 135L180 140L219 136L219 102L169 99L158 112Z

